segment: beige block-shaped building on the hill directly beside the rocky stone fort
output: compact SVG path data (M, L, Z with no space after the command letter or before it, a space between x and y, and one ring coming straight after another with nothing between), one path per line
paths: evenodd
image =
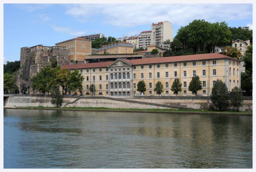
M74 38L55 44L59 47L66 47L70 60L84 61L85 55L91 54L91 41L85 38Z

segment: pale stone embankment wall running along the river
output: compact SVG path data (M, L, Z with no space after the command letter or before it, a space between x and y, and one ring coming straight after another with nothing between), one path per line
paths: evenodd
M55 107L49 95L10 95L4 97L6 107ZM134 96L134 97L102 97L102 96L63 96L62 107L104 107L127 109L200 109L215 110L207 97L184 96ZM229 105L228 109L234 109ZM239 111L252 111L252 97L244 97Z

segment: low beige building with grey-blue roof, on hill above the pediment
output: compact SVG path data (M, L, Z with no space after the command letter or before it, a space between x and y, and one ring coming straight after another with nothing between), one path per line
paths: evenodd
M133 45L127 42L118 42L105 45L97 49L97 54L131 54L133 53Z

